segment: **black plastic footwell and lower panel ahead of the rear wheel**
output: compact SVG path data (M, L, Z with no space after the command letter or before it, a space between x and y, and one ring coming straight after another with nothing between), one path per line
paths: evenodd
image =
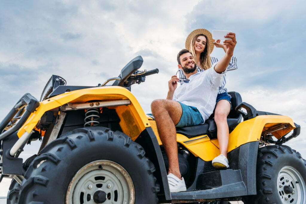
M217 170L198 158L196 176L188 191L171 193L172 202L203 202L256 194L256 162L259 141L228 153L231 169ZM214 178L214 179L211 179Z

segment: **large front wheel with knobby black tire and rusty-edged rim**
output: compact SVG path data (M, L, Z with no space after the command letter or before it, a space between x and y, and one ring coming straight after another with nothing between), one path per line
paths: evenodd
M119 131L75 129L34 159L19 203L157 203L155 167L144 155Z

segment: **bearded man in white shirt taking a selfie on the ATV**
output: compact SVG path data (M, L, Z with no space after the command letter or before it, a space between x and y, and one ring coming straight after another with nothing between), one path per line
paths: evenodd
M167 98L154 100L151 104L169 161L167 177L170 192L186 191L178 165L175 127L202 124L213 113L218 87L237 43L235 33L228 33L225 37L231 38L223 42L226 46L225 56L204 72L197 72L194 57L187 49L182 49L177 55L178 68L184 72L189 82L177 88L180 79L176 75L172 76L168 82Z

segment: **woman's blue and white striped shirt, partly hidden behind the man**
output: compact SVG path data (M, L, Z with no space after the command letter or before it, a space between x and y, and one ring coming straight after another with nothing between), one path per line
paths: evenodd
M215 64L216 62L218 62L218 59L216 57L211 57L211 64ZM227 66L226 71L232 71L238 69L237 67L237 59L236 57L232 56L231 60L230 60L230 64ZM196 70L198 72L203 72L205 71L205 69L201 69L200 67L197 66ZM184 75L184 72L179 69L178 72L179 78L186 78L186 76ZM181 85L185 83L185 82L181 82ZM225 88L226 85L226 75L223 75L223 81L221 83L221 86L219 86L219 91L218 93L224 93L227 92L227 89Z

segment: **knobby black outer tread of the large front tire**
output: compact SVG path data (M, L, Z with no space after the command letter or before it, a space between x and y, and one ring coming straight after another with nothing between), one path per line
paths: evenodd
M76 151L78 148L80 148L81 142L84 143L84 145L90 147L91 143L101 143L101 140L103 142L104 140L107 142L111 142L114 146L118 146L119 144L117 143L120 142L121 148L125 148L128 151L135 152L138 161L142 163L143 168L146 168L145 171L147 172L147 180L149 180L148 183L151 182L153 184L150 188L151 195L149 195L150 192L145 192L147 196L151 196L152 198L150 201L147 201L147 203L158 203L157 192L159 192L159 184L156 183L156 178L153 175L153 173L155 172L155 167L153 163L145 157L144 149L140 146L140 144L137 144L136 142L132 141L130 137L128 137L124 133L119 131L113 132L110 129L103 127L100 127L98 129L75 129L69 133L65 133L60 138L54 140L45 148L43 148L40 152L40 155L38 155L33 160L27 172L25 173L25 179L21 185L18 195L18 203L52 203L51 201L49 202L47 199L44 200L43 197L43 193L46 193L47 191L49 191L50 193L50 178L48 178L48 175L52 177L52 173L56 173L58 165L61 165L61 163L64 162L65 155L73 154L73 151ZM73 176L74 175L72 175L72 177ZM136 185L137 184L134 183L134 187ZM137 192L135 193L137 196Z

